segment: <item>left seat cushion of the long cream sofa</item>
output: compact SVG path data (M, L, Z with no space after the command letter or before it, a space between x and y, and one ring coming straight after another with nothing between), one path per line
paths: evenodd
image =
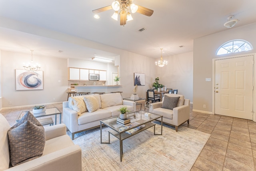
M90 123L93 121L99 121L102 119L107 119L111 117L111 112L105 109L98 109L92 113L84 112L82 115L78 117L78 125L82 125L84 123ZM100 125L100 121L99 121Z

